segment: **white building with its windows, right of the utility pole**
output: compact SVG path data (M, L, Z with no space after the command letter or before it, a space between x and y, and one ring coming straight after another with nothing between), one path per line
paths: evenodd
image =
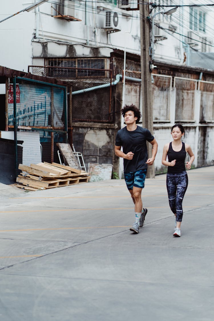
M214 52L214 1L207 6L208 2L201 0L198 7L191 5L199 1L190 0L159 0L157 4L151 13L159 12L154 26L155 60L191 65L191 52ZM172 7L161 5L179 6L175 13L167 15L164 12Z

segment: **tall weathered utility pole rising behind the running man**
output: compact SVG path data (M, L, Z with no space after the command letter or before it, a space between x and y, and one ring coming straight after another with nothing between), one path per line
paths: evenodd
M141 103L142 126L148 128L153 134L153 112L151 102L151 73L150 73L150 20L149 4L140 1L140 31L141 31ZM147 142L149 158L151 158L152 145ZM154 164L148 166L147 178L155 178Z

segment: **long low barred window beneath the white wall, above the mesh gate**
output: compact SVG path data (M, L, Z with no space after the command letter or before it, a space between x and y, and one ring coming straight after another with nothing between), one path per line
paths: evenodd
M106 58L49 58L48 75L60 78L106 77ZM71 68L72 67L72 68ZM93 70L94 69L94 70Z

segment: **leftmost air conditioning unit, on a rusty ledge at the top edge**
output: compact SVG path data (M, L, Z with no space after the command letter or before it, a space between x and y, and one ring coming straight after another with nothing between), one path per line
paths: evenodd
M69 0L59 0L57 5L57 16L56 18L65 18L69 19L69 17L73 17L70 20L78 20L79 19L79 6L77 7L77 1L69 1Z

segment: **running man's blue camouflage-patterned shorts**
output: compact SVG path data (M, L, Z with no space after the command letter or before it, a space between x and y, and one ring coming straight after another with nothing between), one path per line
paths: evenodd
M144 188L144 182L146 178L147 169L140 169L136 172L124 173L125 183L128 190L133 189L133 186Z

